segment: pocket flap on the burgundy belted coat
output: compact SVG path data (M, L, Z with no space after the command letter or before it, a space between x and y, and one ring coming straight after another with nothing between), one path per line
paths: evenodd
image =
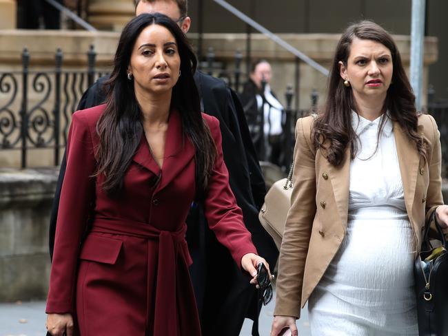
M104 264L115 264L122 245L121 240L90 234L81 247L79 258Z

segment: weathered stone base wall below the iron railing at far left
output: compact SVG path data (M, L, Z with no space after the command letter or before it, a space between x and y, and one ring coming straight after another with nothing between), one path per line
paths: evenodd
M57 169L0 169L0 302L45 299Z

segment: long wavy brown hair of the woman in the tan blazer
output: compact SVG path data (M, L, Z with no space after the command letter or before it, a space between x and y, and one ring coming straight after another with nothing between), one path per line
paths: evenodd
M347 146L350 146L352 158L355 158L358 151L358 138L352 128L352 109L357 111L357 107L352 88L343 85L343 79L340 78L339 73L339 61L347 67L350 46L356 37L376 41L390 50L394 70L383 112L389 111L391 119L398 121L409 140L416 144L420 156L426 160L426 148L417 132L416 98L403 68L400 52L386 30L367 20L349 25L340 37L329 76L327 101L323 113L314 123L314 146L323 148L327 160L334 166L340 165L343 161ZM380 129L384 122L385 118L382 119Z

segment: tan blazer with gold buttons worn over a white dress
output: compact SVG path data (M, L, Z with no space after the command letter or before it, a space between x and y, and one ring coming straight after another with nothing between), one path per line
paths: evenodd
M309 295L339 249L347 228L349 201L349 149L334 167L323 149L312 145L314 118L296 124L294 189L281 245L274 315L300 317ZM425 215L443 204L440 177L440 134L434 118L421 115L418 133L429 143L427 162L420 158L398 123L394 136L407 215L420 248ZM301 302L301 304L299 304Z

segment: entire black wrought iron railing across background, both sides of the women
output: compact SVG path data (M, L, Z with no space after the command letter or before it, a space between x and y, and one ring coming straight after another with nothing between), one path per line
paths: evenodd
M96 68L96 52L93 45L87 52L88 67L86 70L64 70L63 53L57 50L54 55L52 70L35 71L30 69L30 53L25 48L22 53L22 70L0 72L0 151L20 151L22 168L28 167L27 153L32 149L53 149L54 165L59 165L60 149L67 142L68 126L71 114L77 109L79 100L85 90L96 78L103 76L108 70ZM241 82L248 76L241 70L241 52L236 52L232 70L225 63L216 61L213 50L209 50L207 61L201 63L202 70L208 74L223 78L237 93L241 93ZM264 90L262 90L264 92ZM309 108L292 107L295 92L287 87L285 92L285 108L282 111L282 154L280 166L289 167L292 162L294 147L294 125L297 118L316 110L318 94L312 90ZM428 92L427 110L436 118L440 129L442 143L442 176L448 177L448 101L436 101L434 90ZM264 105L268 104L263 97L263 106L258 108L260 134L264 134ZM249 123L250 118L248 119ZM268 120L269 122L269 120ZM250 125L251 126L251 125ZM254 126L254 125L252 125ZM265 148L259 149L258 156L264 158Z

